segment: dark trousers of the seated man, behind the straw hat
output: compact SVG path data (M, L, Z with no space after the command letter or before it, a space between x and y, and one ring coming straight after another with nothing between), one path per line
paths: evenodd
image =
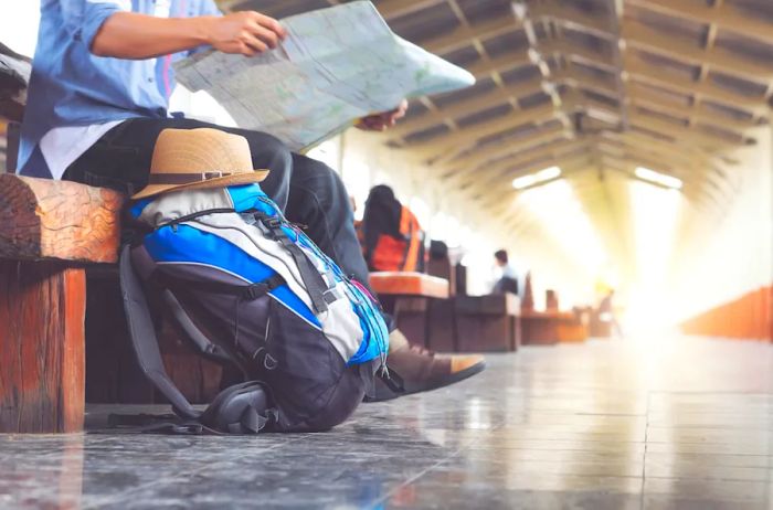
M338 174L326 164L290 152L282 141L257 131L225 128L193 119L127 120L105 134L78 158L64 179L85 184L135 191L145 187L156 138L166 128L210 127L247 139L255 169L271 173L261 188L294 223L350 276L368 285L368 266L354 233L349 195Z

